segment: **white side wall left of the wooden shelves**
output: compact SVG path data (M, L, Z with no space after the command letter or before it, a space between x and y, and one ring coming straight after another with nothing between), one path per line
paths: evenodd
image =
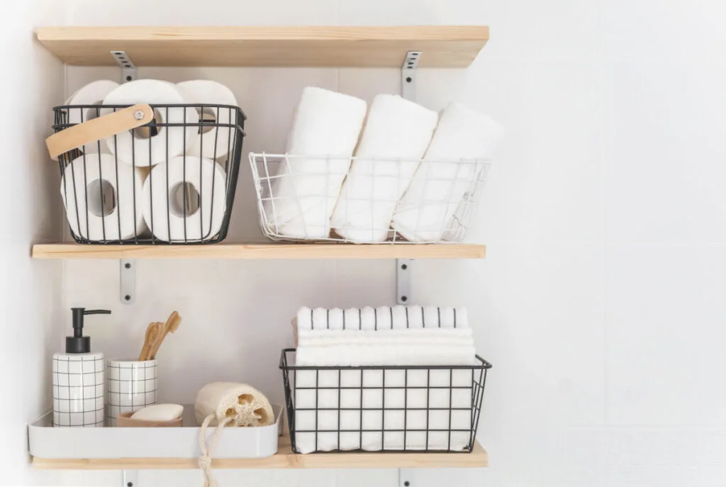
M33 28L64 15L60 3L4 5L0 16L3 93L0 150L0 485L30 484L28 422L51 404L50 356L61 332L60 263L30 259L31 242L62 237L57 165L44 150L50 107L62 101L63 66L36 44Z

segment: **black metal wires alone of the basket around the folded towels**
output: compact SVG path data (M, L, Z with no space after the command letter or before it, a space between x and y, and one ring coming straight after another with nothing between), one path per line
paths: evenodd
M363 366L363 367L300 367L291 365L292 359L290 356L295 353L295 348L285 348L282 350L282 355L280 356L280 369L282 370L282 379L285 385L285 406L287 409L287 422L288 426L290 428L290 443L292 446L292 449L295 453L301 453L301 451L298 449L298 438L297 435L299 434L306 434L306 435L314 435L315 438L315 453L336 453L341 451L346 451L349 453L353 452L362 452L362 451L380 451L383 453L470 453L473 451L474 444L476 442L476 431L478 428L479 418L481 417L481 408L482 404L484 402L484 386L486 385L486 373L489 369L492 368L492 364L490 364L488 361L482 359L480 356L476 356L476 364L475 365L460 365L460 366ZM446 371L449 372L449 377L453 377L454 371L470 371L470 377L471 382L468 386L455 386L454 382L452 380L449 380L448 386L441 386L441 385L432 385L431 384L431 375L432 371L443 371L444 375L446 374ZM315 372L315 385L311 387L298 387L296 383L297 374L302 371L312 371ZM353 372L359 372L360 385L356 385L354 387L340 385L340 375L343 374L343 372L346 371L353 371ZM405 376L404 381L404 387L401 388L400 385L386 385L386 372L388 372L389 375L393 374L394 371L403 372ZM426 374L426 385L425 386L412 386L409 385L412 382L409 382L409 377L414 373L414 371L417 372L425 372ZM319 377L322 374L330 374L330 372L333 372L335 375L337 373L337 386L333 385L320 385ZM367 374L373 374L373 373L379 373L380 375L383 375L383 380L381 382L381 385L378 386L370 386L366 385L366 375ZM330 377L329 377L330 378ZM335 377L333 378L333 382L335 382ZM330 383L328 381L327 383ZM441 429L433 429L429 427L428 419L426 420L426 427L425 428L409 428L408 422L407 422L407 414L412 411L412 409L407 408L404 406L403 408L399 407L386 407L385 399L383 403L383 408L367 408L364 406L363 403L363 391L364 390L380 390L381 395L383 398L386 397L386 391L401 391L403 390L404 395L408 393L411 389L417 389L417 390L423 390L426 394L426 397L428 398L430 396L430 393L432 390L444 390L444 393L446 391L449 391L449 406L448 407L428 407L425 410L425 414L427 414L427 418L431 415L431 412L441 412L441 413L448 413L449 414L449 427L447 429L441 430ZM452 392L454 390L468 390L471 389L471 405L468 408L454 408L452 407ZM328 390L333 391L333 395L335 393L338 394L338 407L334 408L324 408L324 407L317 407L317 399L315 401L316 407L314 408L302 408L298 407L295 404L295 392L298 390L313 390L315 393L316 398L319 395L319 391L321 390ZM340 404L340 395L341 392L344 390L357 390L359 391L359 404L357 404L357 407L341 407ZM428 399L427 399L428 403ZM298 429L297 425L295 425L295 412L314 412L316 415L315 420L315 427L313 429L305 429L301 430ZM359 427L354 429L342 429L340 427L340 420L338 420L338 428L337 429L319 429L318 428L318 421L317 417L319 412L337 412L338 418L342 411L346 412L359 412L359 414L363 414L364 412L380 412L382 415L382 420L380 421L380 424L382 425L381 429L364 429L363 428L363 420L359 422ZM452 414L455 411L463 411L466 414L470 414L470 427L468 427L465 430L461 429L455 429L452 427ZM399 412L399 414L402 412L404 415L403 419L403 425L404 427L401 428L387 428L386 427L386 420L385 416L386 413L393 413L393 412ZM342 434L357 434L359 435L359 443L358 448L346 448L346 449L340 449L340 435ZM378 435L380 434L380 449L364 449L363 448L363 435ZM388 435L395 435L398 434L399 437L402 436L402 448L401 449L386 449L384 448L384 445L386 445L386 434ZM407 435L412 434L420 434L425 435L425 448L408 448L407 444ZM465 446L462 450L454 450L452 449L452 435L453 434L463 434L467 435L468 437L468 445ZM338 449L331 449L331 450L318 450L318 438L319 435L335 435L337 437L337 445ZM431 448L431 441L429 439L429 436L433 435L448 435L448 448L442 449L442 448ZM378 444L378 443L376 443Z

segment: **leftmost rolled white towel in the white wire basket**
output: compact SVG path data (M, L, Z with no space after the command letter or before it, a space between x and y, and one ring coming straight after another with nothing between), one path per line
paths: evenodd
M287 138L287 163L280 165L266 192L266 222L287 237L326 238L366 113L366 102L346 94L308 87Z

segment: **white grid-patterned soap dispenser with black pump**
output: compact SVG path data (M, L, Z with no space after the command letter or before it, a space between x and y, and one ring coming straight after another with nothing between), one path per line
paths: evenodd
M71 311L73 336L65 337L65 353L53 355L53 426L102 427L105 364L103 353L91 352L91 337L83 336L83 316L111 311Z

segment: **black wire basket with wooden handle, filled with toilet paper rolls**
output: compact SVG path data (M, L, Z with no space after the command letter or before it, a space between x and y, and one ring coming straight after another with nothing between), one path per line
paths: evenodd
M83 244L224 240L245 113L232 105L62 105L46 141L73 239Z

